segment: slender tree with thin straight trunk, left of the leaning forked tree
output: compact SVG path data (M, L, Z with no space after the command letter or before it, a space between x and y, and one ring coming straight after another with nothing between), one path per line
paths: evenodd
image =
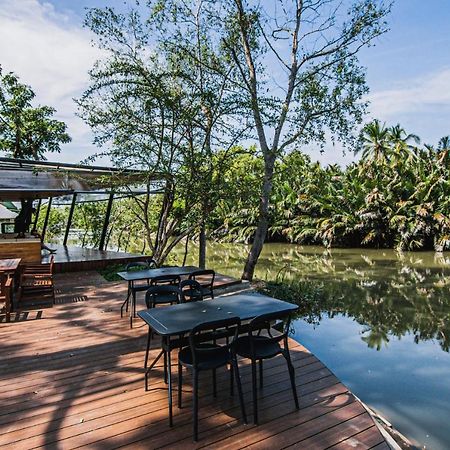
M217 5L211 0L147 4L159 51L175 64L177 82L197 105L190 124L189 158L195 164L189 179L191 192L200 199L199 266L204 267L208 217L222 194L224 166L249 129L248 110L221 40L214 37Z

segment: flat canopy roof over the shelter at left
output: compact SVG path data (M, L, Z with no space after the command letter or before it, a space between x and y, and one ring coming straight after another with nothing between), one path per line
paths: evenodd
M0 158L0 201L112 191L138 195L146 193L139 189L145 179L139 170Z

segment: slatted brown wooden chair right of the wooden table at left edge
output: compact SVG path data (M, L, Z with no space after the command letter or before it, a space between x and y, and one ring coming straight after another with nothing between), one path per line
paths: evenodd
M27 264L23 267L19 282L19 302L50 299L52 304L55 303L53 265L52 256L47 264Z

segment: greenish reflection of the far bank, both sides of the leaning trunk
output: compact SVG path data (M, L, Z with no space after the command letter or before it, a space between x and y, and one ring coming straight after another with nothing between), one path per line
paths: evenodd
M195 255L188 263L195 263ZM239 277L246 255L244 245L212 243L208 265ZM269 244L256 276L292 282L310 323L336 314L356 320L370 348L381 350L392 336L411 335L416 343L435 340L450 349L450 257L444 254Z

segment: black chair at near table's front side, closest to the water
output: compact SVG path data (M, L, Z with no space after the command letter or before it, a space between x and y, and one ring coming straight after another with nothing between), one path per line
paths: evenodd
M272 336L270 324L273 321L283 320L281 334ZM259 384L263 387L263 360L270 359L277 355L283 355L286 359L289 377L291 379L292 393L294 395L295 407L299 409L297 388L295 384L294 366L291 362L288 346L288 333L290 326L290 315L286 313L262 314L252 319L247 325L248 334L236 340L236 354L248 358L252 362L252 392L253 392L253 421L258 424L258 405L256 394L256 362L259 361ZM278 327L277 327L278 328ZM261 335L261 331L266 329L269 336ZM275 331L275 330L274 330ZM283 346L280 343L283 341Z

